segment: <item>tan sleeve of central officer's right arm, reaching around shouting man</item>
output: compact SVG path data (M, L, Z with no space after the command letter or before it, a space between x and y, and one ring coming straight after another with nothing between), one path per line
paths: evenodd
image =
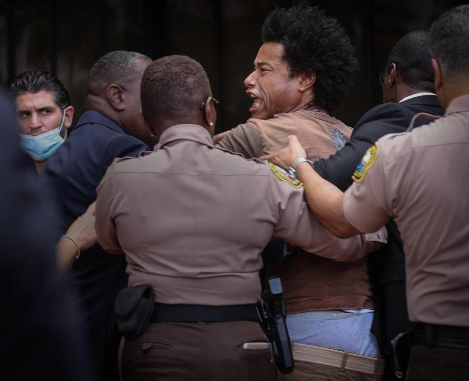
M337 238L308 209L302 186L295 188L275 176L271 180L272 201L278 218L274 236L335 261L357 261L387 242L385 234Z

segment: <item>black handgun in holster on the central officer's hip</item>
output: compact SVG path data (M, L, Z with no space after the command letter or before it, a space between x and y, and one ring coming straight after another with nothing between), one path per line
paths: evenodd
M282 293L280 278L270 277L261 299L262 328L272 343L278 370L287 374L293 372L294 361Z

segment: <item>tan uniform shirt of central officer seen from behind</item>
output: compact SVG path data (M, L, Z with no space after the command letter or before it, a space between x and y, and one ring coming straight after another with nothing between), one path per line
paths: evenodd
M332 236L309 212L302 186L273 170L215 148L201 126L172 126L155 152L109 169L97 189L98 240L126 254L130 286L149 283L155 300L169 304L259 301L260 253L272 235L333 259L373 248L362 236Z

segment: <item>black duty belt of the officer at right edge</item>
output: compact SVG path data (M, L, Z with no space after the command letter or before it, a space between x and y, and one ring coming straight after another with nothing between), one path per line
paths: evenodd
M414 323L412 345L440 345L469 349L469 328Z

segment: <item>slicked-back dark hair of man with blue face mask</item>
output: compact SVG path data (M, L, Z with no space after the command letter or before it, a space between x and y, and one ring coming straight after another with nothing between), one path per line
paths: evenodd
M62 82L43 70L25 71L16 77L10 85L10 91L15 97L25 93L35 94L41 90L51 93L62 111L72 104L70 95Z

